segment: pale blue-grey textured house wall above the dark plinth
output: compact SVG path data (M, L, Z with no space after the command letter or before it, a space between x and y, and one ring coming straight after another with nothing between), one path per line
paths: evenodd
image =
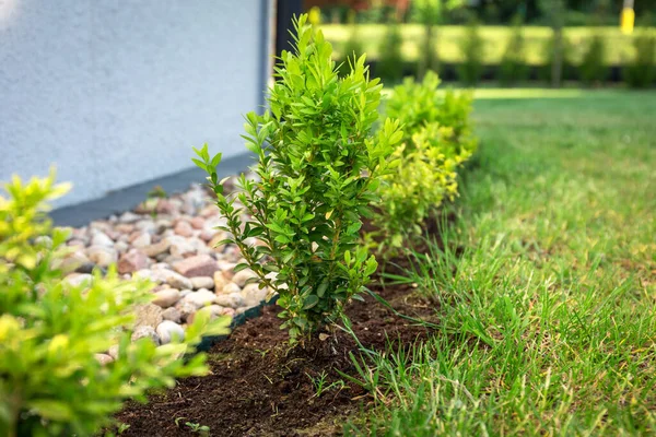
M0 180L56 164L57 205L244 152L261 105L261 0L0 1Z

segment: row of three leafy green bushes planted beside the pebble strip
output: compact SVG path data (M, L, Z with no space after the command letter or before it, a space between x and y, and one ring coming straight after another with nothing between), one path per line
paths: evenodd
M296 48L283 52L269 109L246 117L247 149L257 178L242 176L223 192L207 145L195 163L207 170L230 238L261 286L278 294L292 343L312 341L340 322L389 253L421 235L422 223L457 193L459 166L476 149L467 93L437 93L438 79L399 85L379 117L382 88L365 58L340 76L321 33L296 24ZM63 280L65 232L54 229L45 204L63 190L52 177L15 178L0 197L0 434L93 435L127 399L207 370L189 361L202 335L229 321L199 311L185 342L160 347L130 342L133 309L150 299L143 281L119 280L110 269L91 284ZM244 214L250 218L244 221ZM363 234L367 218L374 231ZM253 237L263 245L250 245ZM118 358L95 354L113 344Z

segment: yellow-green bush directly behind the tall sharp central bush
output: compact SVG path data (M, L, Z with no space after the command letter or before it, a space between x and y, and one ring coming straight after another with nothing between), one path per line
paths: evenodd
M406 79L387 103L387 115L403 126L402 145L395 152L400 165L383 177L374 217L379 234L368 239L390 253L405 238L421 234L425 218L456 196L457 168L477 146L469 120L471 94L441 92L438 85L433 72L421 83Z

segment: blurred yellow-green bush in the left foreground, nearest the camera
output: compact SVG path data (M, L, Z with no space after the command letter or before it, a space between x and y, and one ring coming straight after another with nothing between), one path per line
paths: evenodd
M89 436L108 425L125 400L171 387L175 377L201 375L204 356L178 359L201 334L226 332L200 311L186 343L160 347L130 342L134 306L152 294L145 282L119 280L109 269L91 283L62 275L67 233L52 229L46 202L66 191L54 177L23 184L14 177L0 197L0 435ZM200 315L200 318L198 317ZM118 344L118 358L96 354Z

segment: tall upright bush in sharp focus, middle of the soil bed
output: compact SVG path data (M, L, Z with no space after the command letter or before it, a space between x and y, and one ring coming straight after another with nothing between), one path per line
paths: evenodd
M402 137L389 119L372 134L382 85L368 80L364 56L338 78L330 44L306 19L294 22L295 52L281 56L270 110L247 116L244 138L257 155L259 180L242 177L238 194L225 197L214 170L221 155L210 157L206 146L195 160L227 218L229 241L246 260L237 270L250 267L278 293L281 328L292 342L339 318L376 270L359 246L361 217ZM243 212L251 218L244 221ZM249 237L263 245L249 245Z

